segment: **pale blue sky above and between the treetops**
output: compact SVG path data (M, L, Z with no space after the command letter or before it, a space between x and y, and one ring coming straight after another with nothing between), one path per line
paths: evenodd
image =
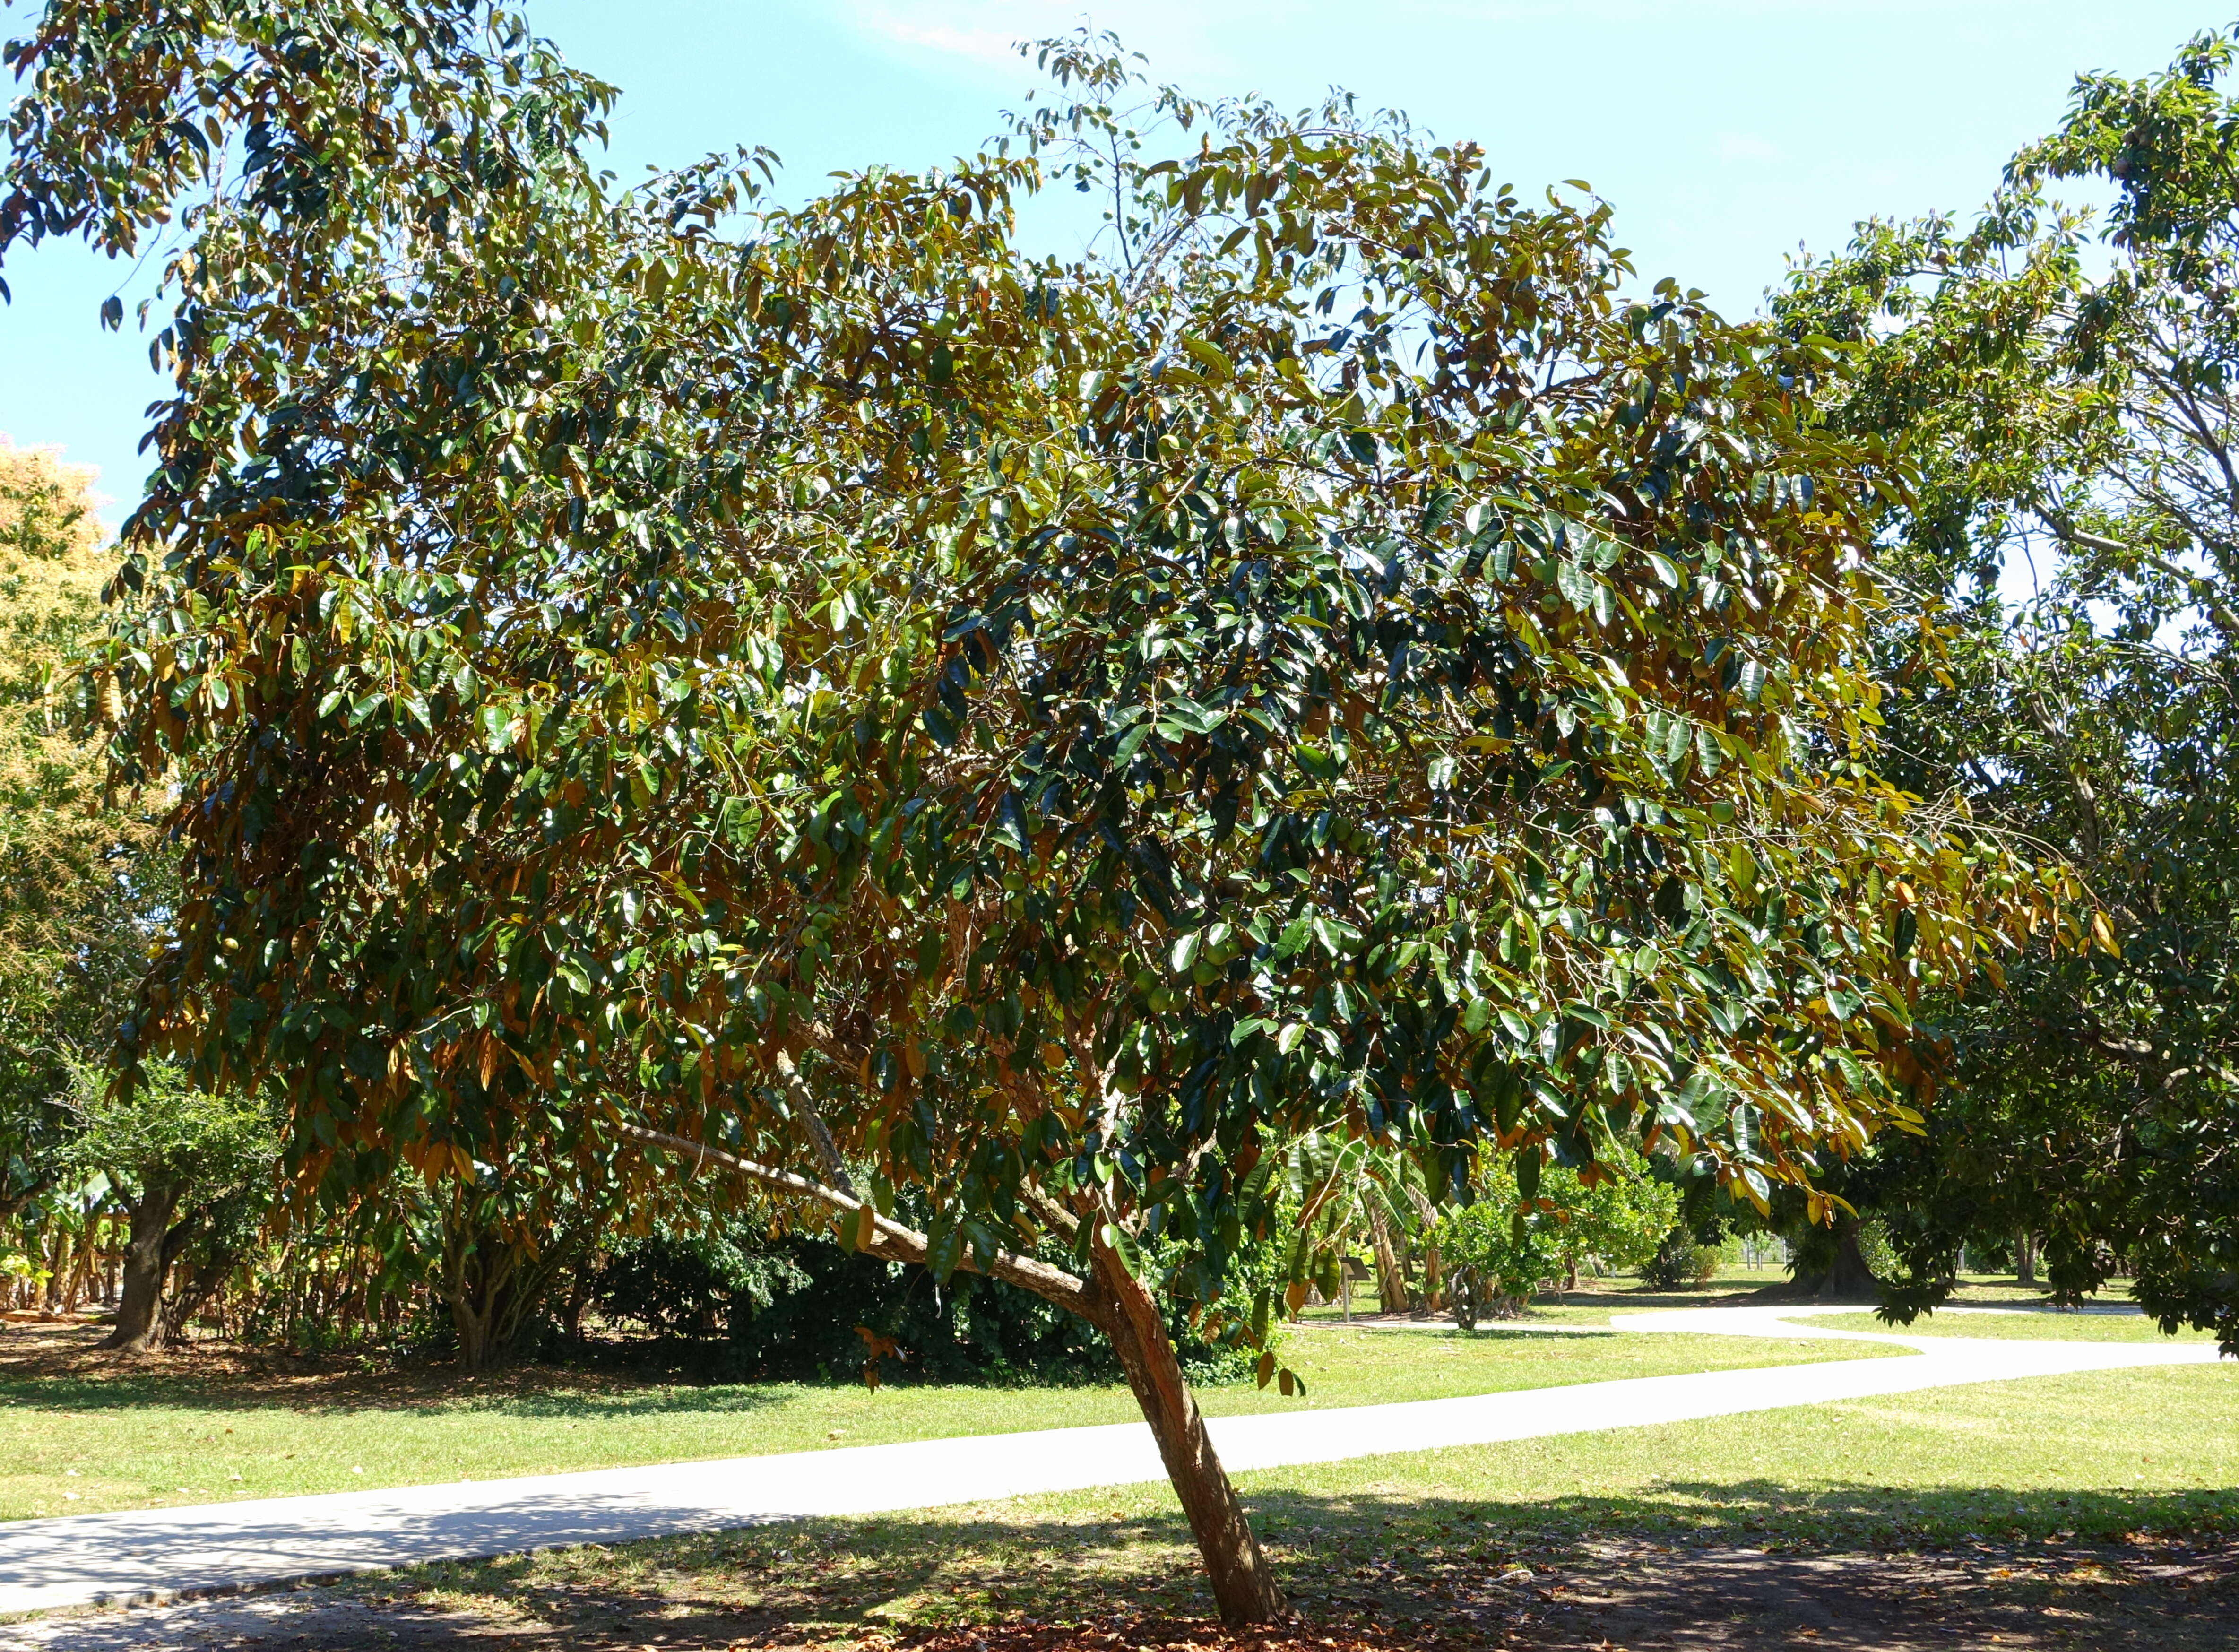
M2230 0L2239 11L2239 0ZM2145 74L2228 20L2167 0L528 0L566 56L622 87L625 177L766 143L788 195L873 161L972 152L1030 72L1010 43L1117 29L1193 92L1296 105L1339 83L1476 139L1523 186L1587 179L1646 280L1729 313L1782 257L1858 217L1966 210L2049 130L2082 69ZM9 31L22 11L7 13ZM9 260L0 432L101 468L114 522L139 490L161 381L101 334L121 266L47 246ZM139 289L125 287L132 300Z

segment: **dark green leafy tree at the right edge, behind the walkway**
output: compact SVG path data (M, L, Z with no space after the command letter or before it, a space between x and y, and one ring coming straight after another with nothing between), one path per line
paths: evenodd
M1903 441L1890 566L1943 604L1890 631L1892 775L2053 846L2109 929L2031 947L1941 1016L1961 1088L1870 1171L1939 1298L1966 1242L2042 1233L2064 1301L2136 1271L2239 1348L2239 172L2232 34L2078 81L1973 226L1865 224L1780 313L1858 345L1838 421ZM2046 188L2096 179L2105 231ZM2033 595L2008 611L1999 569Z

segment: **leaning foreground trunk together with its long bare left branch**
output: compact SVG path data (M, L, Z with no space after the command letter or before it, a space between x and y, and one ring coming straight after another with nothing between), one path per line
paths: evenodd
M622 1133L652 1146L690 1153L701 1164L719 1164L761 1186L813 1198L840 1211L842 1218L851 1218L842 1220L840 1227L853 1249L869 1256L880 1256L889 1263L927 1260L929 1245L925 1233L880 1215L871 1204L849 1193L811 1182L804 1175L793 1175L790 1171L741 1160L721 1148L687 1142L678 1135L638 1126L622 1126ZM1214 1605L1218 1605L1222 1623L1245 1625L1281 1618L1287 1612L1283 1592L1276 1587L1274 1571L1261 1554L1258 1538L1252 1536L1252 1522L1236 1500L1236 1486L1229 1484L1229 1475L1220 1466L1214 1439L1205 1430L1205 1417L1198 1412L1198 1401L1182 1377L1182 1363L1173 1354L1173 1341L1167 1336L1158 1303L1104 1242L1102 1231L1090 1238L1088 1256L1090 1278L1086 1285L1061 1267L1050 1267L1039 1258L1012 1251L996 1251L985 1271L990 1278L1019 1285L1057 1307L1079 1314L1111 1336L1113 1352L1120 1357L1120 1370L1126 1372L1135 1404L1142 1406L1142 1417L1151 1424L1151 1437L1158 1442L1158 1455L1167 1464L1167 1477L1173 1482L1173 1491L1182 1500L1182 1511L1189 1515L1189 1529L1198 1540L1198 1554L1205 1558L1205 1571L1214 1585ZM958 1263L958 1271L981 1269L967 1254Z

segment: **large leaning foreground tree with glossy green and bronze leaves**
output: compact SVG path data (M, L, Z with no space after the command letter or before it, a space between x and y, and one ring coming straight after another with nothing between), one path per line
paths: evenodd
M282 1081L329 1189L528 1121L1064 1305L1234 1621L1162 1307L1263 1339L1290 1142L1762 1200L1917 1121L1923 976L2055 922L1872 768L1818 345L1621 298L1605 208L1471 146L1070 40L992 154L784 208L602 181L607 90L479 4L58 0L16 63L0 244L186 228L130 1050ZM1050 184L1079 257L1014 242Z

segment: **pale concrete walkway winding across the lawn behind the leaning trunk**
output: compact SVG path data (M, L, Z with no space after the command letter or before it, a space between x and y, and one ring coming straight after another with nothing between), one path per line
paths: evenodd
M1482 1446L1502 1439L1731 1417L1921 1388L2212 1361L2203 1343L1973 1341L1811 1325L1856 1307L1619 1314L1619 1330L1840 1336L1919 1359L1845 1359L1632 1377L1402 1406L1220 1417L1231 1471ZM0 1524L0 1614L163 1601L421 1560L519 1554L811 1515L862 1515L1164 1480L1142 1424L600 1468L472 1484L266 1498Z

